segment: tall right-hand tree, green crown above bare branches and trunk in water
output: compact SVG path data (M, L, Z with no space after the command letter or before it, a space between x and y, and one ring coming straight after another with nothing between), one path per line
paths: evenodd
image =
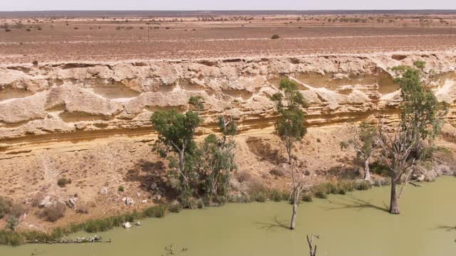
M403 102L400 105L400 124L395 132L388 132L380 124L375 142L380 147L380 159L388 166L391 179L389 212L399 214L399 198L409 182L413 166L421 158L425 139L434 138L443 124L446 106L437 102L432 91L422 85L420 70L401 68L403 74L395 78L400 86ZM397 186L403 183L398 192Z

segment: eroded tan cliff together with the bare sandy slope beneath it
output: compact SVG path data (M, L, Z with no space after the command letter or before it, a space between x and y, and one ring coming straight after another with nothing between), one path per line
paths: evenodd
M338 146L350 136L346 125L397 121L400 93L388 68L415 60L426 62L426 80L452 106L447 120L454 124L454 52L0 66L0 191L23 199L78 193L82 201L102 202L100 214L108 206L118 210L119 185L134 193L165 168L150 151L150 115L184 112L192 95L205 100L199 134L214 131L219 114L239 121L237 175L283 186L271 174L280 170L283 152L271 134L269 97L284 77L298 82L310 103L311 129L296 147L302 166L316 175L344 169L354 156ZM56 185L62 175L72 178L71 186ZM101 195L103 186L113 194Z

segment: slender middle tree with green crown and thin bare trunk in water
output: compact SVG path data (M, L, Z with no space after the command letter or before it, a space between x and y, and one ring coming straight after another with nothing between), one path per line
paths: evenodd
M275 102L276 111L279 114L279 119L277 119L275 124L275 132L285 146L290 165L292 178L290 200L293 205L290 229L293 230L296 225L298 204L301 201L306 185L304 173L301 174L301 172L297 170L295 172L294 170L292 150L294 144L301 141L307 132L304 126L304 112L301 110L301 107L306 107L307 103L301 92L299 92L296 82L283 79L280 81L279 89L281 92L276 92L272 95L271 100Z

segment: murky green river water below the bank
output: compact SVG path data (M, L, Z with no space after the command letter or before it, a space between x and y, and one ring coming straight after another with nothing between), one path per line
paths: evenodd
M302 203L293 231L284 228L291 217L285 202L234 203L98 234L111 243L0 246L0 255L167 255L168 245L187 256L309 255L307 233L320 236L318 256L456 255L456 178L421 185L405 188L400 215L386 212L390 188L383 187Z

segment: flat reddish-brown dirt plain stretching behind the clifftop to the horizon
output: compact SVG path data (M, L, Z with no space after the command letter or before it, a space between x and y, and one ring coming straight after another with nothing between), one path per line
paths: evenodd
M8 17L0 18L0 62L452 50L455 27L454 14Z

